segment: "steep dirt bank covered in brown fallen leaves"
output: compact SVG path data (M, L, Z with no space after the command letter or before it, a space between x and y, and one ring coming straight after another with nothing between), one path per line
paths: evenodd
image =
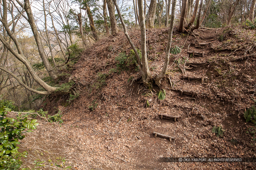
M71 76L79 82L80 96L71 103L60 96L46 101L49 111L53 106L62 110L64 123L60 127L40 121L38 129L21 144L31 155L25 166L35 158L47 162L61 156L73 169L254 169L254 163L159 162L160 157L256 156L253 136L246 133L252 124L243 118L244 109L255 103L256 31L230 27L196 33L200 37L174 34L172 46L182 51L170 56L166 79L162 80L166 90L163 101L155 93L159 88L155 86L152 93L145 88L134 65L129 70L117 69L115 58L131 55L123 34L95 43ZM139 47L138 30L130 34ZM147 31L152 75L162 69L167 34L167 29ZM182 74L180 69L184 68ZM161 120L158 113L181 118ZM219 125L224 130L222 137L212 133ZM154 138L153 132L175 140Z

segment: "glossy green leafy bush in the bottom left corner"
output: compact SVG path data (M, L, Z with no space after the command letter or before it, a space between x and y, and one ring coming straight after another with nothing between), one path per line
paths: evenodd
M0 106L0 169L16 170L22 165L21 157L26 157L26 151L23 153L18 152L17 147L20 142L19 139L25 137L24 133L32 132L25 129L36 129L39 124L37 120L28 121L28 114L20 115L14 119L6 117L6 113L11 111L5 106Z

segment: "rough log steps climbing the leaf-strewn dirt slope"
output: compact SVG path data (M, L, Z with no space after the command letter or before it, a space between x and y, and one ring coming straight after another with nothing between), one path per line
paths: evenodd
M190 44L191 45L191 44ZM189 46L190 46L189 45ZM196 44L192 44L192 46L194 46L194 50L187 49L187 58L184 60L184 63L182 63L183 67L180 67L180 70L182 72L182 76L180 77L180 81L186 82L186 83L194 83L194 85L198 85L201 87L201 84L206 82L208 80L208 77L206 74L199 74L198 72L202 72L202 70L205 71L205 66L207 64L209 64L208 61L205 61L205 55L206 51L205 47L207 47L208 45L210 45L210 43L207 42L201 42ZM191 46L191 47L192 47ZM183 57L184 58L184 57ZM182 70L183 69L183 70ZM180 96L188 96L186 97L187 99L194 99L196 100L197 97L197 89L187 89L186 86L182 86L180 87L180 89L175 89L174 88L174 82L171 82L171 80L169 79L169 83L171 85L171 90L177 91L178 93L180 93ZM181 107L183 109L189 109L189 115L192 114L194 112L194 110L196 109L195 107L190 107L190 106L177 106L177 107ZM158 117L159 119L167 119L167 120L173 120L178 121L179 119L182 119L182 116L173 116L173 115L169 115L169 114L163 114L163 113L158 113ZM168 135L164 135L161 133L157 133L157 132L153 132L154 137L156 136L160 136L163 138L168 138L170 141L175 140L175 137L171 137Z

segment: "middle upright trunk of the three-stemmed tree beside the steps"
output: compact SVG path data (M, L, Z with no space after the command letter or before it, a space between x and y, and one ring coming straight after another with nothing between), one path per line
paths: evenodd
M142 80L146 86L151 88L152 86L152 83L150 83L151 75L150 75L150 71L148 69L148 63L147 63L146 27L145 27L145 17L143 12L143 0L138 0L138 9L139 9L139 16L141 21L140 27L141 27Z

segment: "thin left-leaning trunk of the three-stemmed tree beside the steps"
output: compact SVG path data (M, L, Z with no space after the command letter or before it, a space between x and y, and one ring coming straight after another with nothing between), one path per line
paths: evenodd
M135 53L135 55L136 55L137 62L138 62L138 65L139 65L140 69L142 69L142 63L141 63L140 55L139 55L139 53L138 53L136 47L134 46L134 44L133 44L133 42L132 42L132 40L131 40L131 38L130 38L128 32L127 32L127 29L126 29L126 26L125 26L125 23L124 23L124 20L123 20L121 11L120 11L120 9L119 9L119 7L118 7L118 4L117 4L116 0L113 0L113 2L114 2L114 4L115 4L115 7L116 7L116 10L117 10L118 16L119 16L120 21L121 21L121 24L122 24L122 26L123 26L124 34L125 34L125 36L126 36L128 42L129 42L129 44L131 45L131 47L132 47L132 49L133 49L133 51L134 51L134 53Z

